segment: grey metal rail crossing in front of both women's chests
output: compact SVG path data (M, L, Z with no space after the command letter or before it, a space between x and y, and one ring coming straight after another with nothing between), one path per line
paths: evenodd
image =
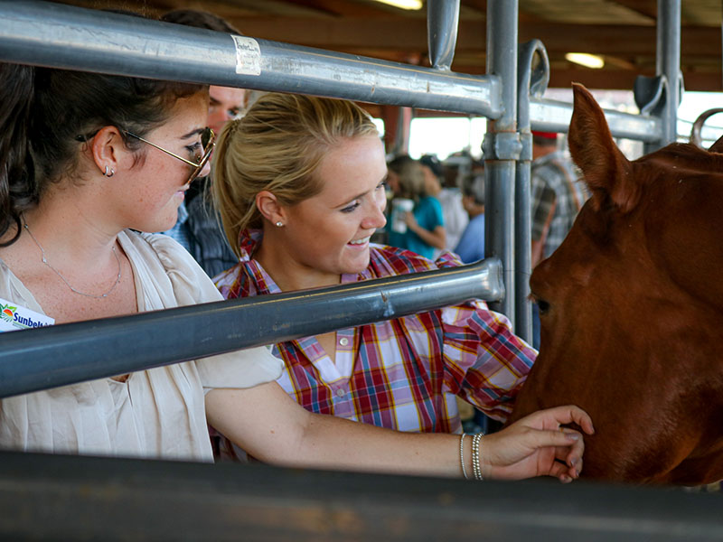
M0 397L196 360L504 294L502 264L0 333Z

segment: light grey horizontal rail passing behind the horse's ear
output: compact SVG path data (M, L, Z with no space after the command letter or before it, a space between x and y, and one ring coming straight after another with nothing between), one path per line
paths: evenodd
M547 98L530 98L530 117L533 130L567 133L572 117L572 104ZM659 141L662 123L657 117L633 115L605 109L610 131L615 137L639 141Z

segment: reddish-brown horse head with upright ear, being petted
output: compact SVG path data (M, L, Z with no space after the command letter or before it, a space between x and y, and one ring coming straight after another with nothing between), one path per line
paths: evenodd
M540 356L513 419L585 408L588 477L717 481L723 154L673 144L630 162L587 89L574 93L569 147L593 197L531 276Z

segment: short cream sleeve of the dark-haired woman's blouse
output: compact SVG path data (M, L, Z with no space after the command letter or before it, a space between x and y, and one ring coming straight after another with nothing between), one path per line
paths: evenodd
M201 266L172 238L148 238L171 281L178 306L222 301L223 296ZM206 392L212 388L252 388L281 376L283 362L268 347L237 350L196 360Z

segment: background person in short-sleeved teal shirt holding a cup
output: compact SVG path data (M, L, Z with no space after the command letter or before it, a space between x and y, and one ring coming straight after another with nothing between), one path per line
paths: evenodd
M445 248L445 220L442 205L429 186L423 166L417 160L409 159L399 165L399 195L415 201L414 208L406 213L407 230L403 233L389 230L389 244L392 247L407 248L418 255L432 259L435 248ZM436 181L438 183L438 181Z

